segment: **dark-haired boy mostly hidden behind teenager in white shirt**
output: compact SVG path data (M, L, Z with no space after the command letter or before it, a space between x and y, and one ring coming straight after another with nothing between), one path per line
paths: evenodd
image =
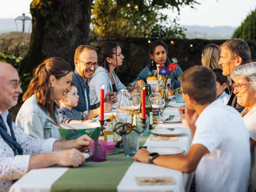
M222 74L222 69L213 69L216 76L216 88L217 88L217 98L222 99L224 104L228 104L229 94L225 92L228 84L228 77Z

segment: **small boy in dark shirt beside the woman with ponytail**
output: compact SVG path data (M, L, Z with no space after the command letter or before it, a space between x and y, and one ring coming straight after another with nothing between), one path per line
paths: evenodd
M73 109L78 105L78 94L76 84L71 82L71 90L66 93L66 96L62 97L62 100L58 101L60 104L59 118L62 123L81 123L81 122L93 122L88 120L89 111L85 111L83 114Z

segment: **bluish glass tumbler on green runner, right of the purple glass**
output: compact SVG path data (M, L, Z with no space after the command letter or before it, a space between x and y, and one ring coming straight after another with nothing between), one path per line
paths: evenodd
M140 135L126 134L123 136L124 155L134 156L139 149Z

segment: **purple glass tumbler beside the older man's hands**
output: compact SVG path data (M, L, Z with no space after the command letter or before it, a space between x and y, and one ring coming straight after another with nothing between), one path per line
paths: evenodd
M92 162L106 161L106 140L90 140L90 155Z

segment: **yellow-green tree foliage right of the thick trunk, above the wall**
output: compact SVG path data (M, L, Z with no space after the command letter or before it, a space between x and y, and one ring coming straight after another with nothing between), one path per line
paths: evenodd
M128 8L127 4L131 6ZM185 38L184 28L176 18L164 15L160 10L181 4L191 6L194 0L95 0L92 8L92 30L95 36L121 36L143 38ZM138 5L138 9L134 8ZM192 6L191 6L192 7ZM171 12L171 10L170 10ZM166 27L170 26L170 27Z

